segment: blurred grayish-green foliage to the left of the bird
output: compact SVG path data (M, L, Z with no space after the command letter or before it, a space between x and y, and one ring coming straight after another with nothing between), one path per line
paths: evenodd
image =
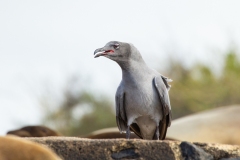
M86 91L73 92L72 87L79 86L72 86L71 80L67 83L63 90L63 101L55 109L51 110L53 106L48 103L49 97L41 98L44 124L65 136L80 136L97 129L116 127L112 101L106 97L96 98Z

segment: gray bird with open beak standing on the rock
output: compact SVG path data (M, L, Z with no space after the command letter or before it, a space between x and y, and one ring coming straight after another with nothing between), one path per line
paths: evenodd
M120 132L130 131L143 139L164 139L171 125L168 91L171 79L149 68L132 44L111 41L96 49L94 57L104 56L119 64L122 81L115 95L116 120Z

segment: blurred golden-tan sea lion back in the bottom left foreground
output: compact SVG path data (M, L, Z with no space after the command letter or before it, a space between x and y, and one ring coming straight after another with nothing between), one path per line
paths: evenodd
M15 136L0 136L0 160L61 160L49 148Z

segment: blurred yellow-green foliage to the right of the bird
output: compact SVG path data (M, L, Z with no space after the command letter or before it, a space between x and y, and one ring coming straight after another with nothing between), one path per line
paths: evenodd
M240 103L240 61L230 51L220 76L206 65L184 68L179 62L172 63L168 73L173 79L170 100L173 118L191 113Z

